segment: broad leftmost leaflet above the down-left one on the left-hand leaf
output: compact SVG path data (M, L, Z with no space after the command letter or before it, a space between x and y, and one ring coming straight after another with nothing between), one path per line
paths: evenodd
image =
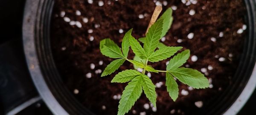
M100 52L109 58L124 58L119 46L109 38L100 41Z

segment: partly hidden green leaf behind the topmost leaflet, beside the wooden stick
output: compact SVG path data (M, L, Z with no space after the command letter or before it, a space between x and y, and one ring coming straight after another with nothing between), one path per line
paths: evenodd
M161 38L162 38L166 35L168 30L171 28L172 21L173 21L172 9L168 8L158 20L161 20L161 19L163 19L163 30L161 34Z

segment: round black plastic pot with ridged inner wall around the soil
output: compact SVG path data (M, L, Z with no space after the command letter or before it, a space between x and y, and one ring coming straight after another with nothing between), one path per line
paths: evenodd
M234 115L256 86L256 3L244 0L248 35L233 85L197 115ZM67 90L56 69L49 41L54 0L27 0L23 18L23 45L31 77L41 97L56 115L93 115Z

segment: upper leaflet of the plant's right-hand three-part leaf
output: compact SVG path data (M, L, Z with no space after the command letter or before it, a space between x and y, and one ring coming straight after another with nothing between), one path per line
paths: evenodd
M186 63L189 59L190 51L187 49L177 55L175 55L167 64L166 70L176 69Z

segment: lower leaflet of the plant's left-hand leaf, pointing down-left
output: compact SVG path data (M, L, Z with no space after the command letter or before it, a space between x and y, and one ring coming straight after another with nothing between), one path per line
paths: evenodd
M101 77L110 75L111 73L115 72L116 69L118 69L124 62L125 62L125 59L113 60L110 64L108 64L108 66L102 72Z

